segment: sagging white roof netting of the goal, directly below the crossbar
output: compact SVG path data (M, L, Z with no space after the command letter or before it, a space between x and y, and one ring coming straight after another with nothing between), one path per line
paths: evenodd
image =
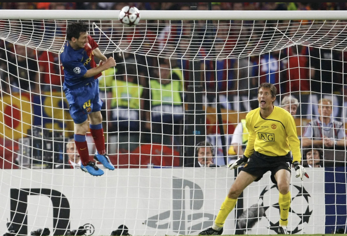
M2 20L0 38L59 53L71 20ZM88 21L86 21L88 22ZM104 53L126 51L187 60L256 56L293 45L345 51L344 20L151 20L124 27L118 20L89 20ZM222 52L214 52L222 49ZM196 55L196 51L203 52Z

